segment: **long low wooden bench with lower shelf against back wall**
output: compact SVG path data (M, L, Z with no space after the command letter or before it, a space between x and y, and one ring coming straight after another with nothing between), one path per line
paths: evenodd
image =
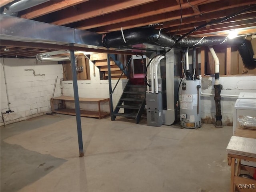
M57 110L54 110L54 104L53 101L51 102L51 108L52 112L54 113L60 113L60 114L67 114L67 115L76 115L75 109L66 108L65 101L74 101L74 97L69 96L59 96L54 97L52 100L62 100L62 106L58 108ZM80 110L80 116L83 117L96 117L96 118L104 118L106 116L109 116L109 112L102 112L100 110L100 103L102 102L108 102L109 98L79 98L79 102L97 102L98 103L98 111L88 111L88 110Z

